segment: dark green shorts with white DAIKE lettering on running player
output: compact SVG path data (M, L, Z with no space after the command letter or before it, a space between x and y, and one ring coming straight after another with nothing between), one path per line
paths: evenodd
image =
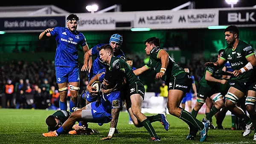
M192 78L187 72L181 72L178 75L174 75L169 81L166 81L166 85L168 86L168 90L170 89L178 89L186 94L190 91L192 86Z

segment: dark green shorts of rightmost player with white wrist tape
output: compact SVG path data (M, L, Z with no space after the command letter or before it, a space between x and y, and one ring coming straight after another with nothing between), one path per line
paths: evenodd
M234 81L235 84L232 85L232 87L240 90L241 92L246 95L248 90L256 91L256 81L248 82L248 83L241 83L238 81Z

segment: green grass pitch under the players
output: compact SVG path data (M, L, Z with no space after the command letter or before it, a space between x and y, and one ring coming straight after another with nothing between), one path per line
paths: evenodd
M43 137L47 132L45 119L54 111L31 110L31 109L0 109L0 144L145 144L154 143L148 141L149 134L145 128L137 128L128 124L128 113L121 112L118 121L120 134L115 134L109 141L101 141L108 135L109 124L99 127L98 124L89 124L90 128L99 130L98 135L60 135L58 137ZM151 114L146 114L151 115ZM204 115L198 115L202 119ZM172 115L167 115L171 125L170 130L164 130L159 122L152 125L161 137L158 144L197 144L199 136L194 141L186 141L189 133L186 123ZM213 118L215 124L215 118ZM223 126L231 127L231 116L227 116ZM248 137L241 135L241 130L209 130L205 144L251 144L253 133Z

